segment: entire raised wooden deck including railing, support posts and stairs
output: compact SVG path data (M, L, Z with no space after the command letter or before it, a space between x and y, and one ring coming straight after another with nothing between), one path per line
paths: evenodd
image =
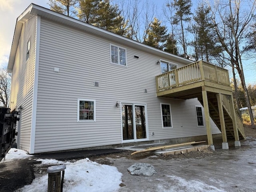
M191 99L198 98L204 106L208 144L212 143L210 117L222 132L223 142L227 136L245 139L242 120L236 114L230 87L228 70L204 61L194 62L156 76L158 97Z

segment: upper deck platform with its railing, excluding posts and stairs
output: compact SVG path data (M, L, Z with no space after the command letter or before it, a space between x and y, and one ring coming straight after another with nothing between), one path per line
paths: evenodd
M230 95L228 70L198 61L156 76L158 97L197 98L202 90Z

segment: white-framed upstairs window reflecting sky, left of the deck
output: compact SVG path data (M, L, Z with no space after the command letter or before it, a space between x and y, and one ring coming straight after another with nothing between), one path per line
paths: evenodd
M114 45L110 45L110 47L111 63L126 66L126 49Z

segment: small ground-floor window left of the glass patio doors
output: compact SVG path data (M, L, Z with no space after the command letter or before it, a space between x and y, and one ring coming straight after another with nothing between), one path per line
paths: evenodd
M95 121L95 100L78 99L77 121Z

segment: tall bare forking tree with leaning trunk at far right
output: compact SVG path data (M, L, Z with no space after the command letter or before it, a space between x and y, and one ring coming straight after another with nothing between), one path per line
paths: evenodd
M250 30L250 24L256 11L256 0L249 0L248 7L250 8L249 10L242 12L240 0L234 2L231 0L214 1L214 4L210 5L215 32L239 74L252 128L255 128L250 98L244 80L242 54L245 51L243 49L245 37L248 34L248 30Z

